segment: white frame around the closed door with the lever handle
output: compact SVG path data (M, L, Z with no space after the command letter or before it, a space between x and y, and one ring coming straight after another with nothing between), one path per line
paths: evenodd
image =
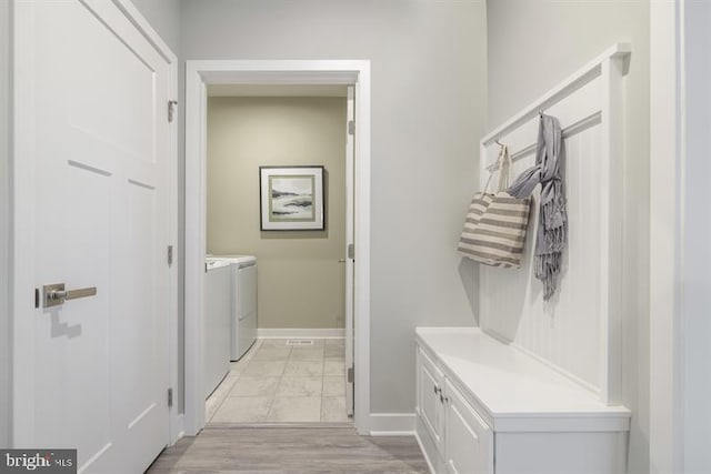
M12 127L10 129L10 222L8 226L9 235L9 301L10 315L8 322L11 331L8 333L8 351L10 361L6 364L10 369L8 384L9 407L9 445L13 446L18 437L27 437L28 433L18 433L18 424L14 422L20 417L33 416L30 401L27 394L18 393L18 380L30 376L29 371L23 370L24 361L33 357L33 345L28 341L26 335L30 331L32 315L37 311L31 295L28 294L29 288L36 286L33 271L33 249L34 242L34 139L36 132L31 124L31 119L27 115L27 111L16 107L16 103L33 101L34 92L31 88L23 85L23 74L28 71L18 71L17 64L12 58L31 54L31 44L20 44L16 40L16 31L19 24L32 28L31 18L24 18L14 8L17 0L10 2L10 118ZM91 1L82 1L91 9ZM150 26L148 20L139 12L130 0L112 0L113 4L131 21L134 28L149 41L149 43L158 51L158 53L169 63L170 69L170 95L176 97L178 93L178 58L160 38L156 30ZM166 109L167 111L167 109ZM160 120L157 117L157 120ZM170 127L170 147L169 147L169 232L167 244L173 248L178 243L178 121L173 121ZM22 262L18 264L18 262ZM178 269L172 265L170 269L169 283L169 357L170 364L166 367L169 374L171 386L178 384ZM4 341L2 341L4 342ZM0 360L0 363L4 361ZM168 387L167 387L168 389ZM2 389L4 390L4 387ZM178 415L176 406L169 410L169 433L166 433L167 444L172 444L181 435L182 420Z

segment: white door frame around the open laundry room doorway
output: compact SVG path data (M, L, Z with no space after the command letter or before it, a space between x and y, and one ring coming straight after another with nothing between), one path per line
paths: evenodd
M206 424L203 386L203 278L207 192L207 85L356 85L354 424L369 433L370 417L370 61L191 60L186 61L186 320L184 428Z

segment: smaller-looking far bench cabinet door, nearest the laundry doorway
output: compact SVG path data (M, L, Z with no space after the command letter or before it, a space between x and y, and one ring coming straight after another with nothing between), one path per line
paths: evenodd
M418 412L440 453L444 451L442 443L442 425L444 423L443 381L444 375L442 372L418 347Z

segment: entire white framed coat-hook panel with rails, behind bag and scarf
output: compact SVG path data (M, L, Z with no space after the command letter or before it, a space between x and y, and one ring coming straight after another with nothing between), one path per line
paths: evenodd
M488 333L617 401L619 389L619 252L623 147L622 60L618 46L482 140L481 182L499 145L509 145L514 179L535 162L538 109L563 128L563 173L569 234L558 292L543 301L533 272L539 191L534 193L525 253L519 270L480 266L480 321ZM617 58L617 59L615 59ZM619 65L619 67L618 67ZM540 186L539 186L540 189Z

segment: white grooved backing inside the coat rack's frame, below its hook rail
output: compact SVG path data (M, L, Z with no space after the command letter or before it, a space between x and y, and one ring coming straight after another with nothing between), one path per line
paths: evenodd
M520 270L482 266L482 326L515 341L598 386L600 350L599 125L565 140L569 240L559 292L543 302L533 275L539 192L535 191ZM531 153L514 162L514 175L531 167ZM582 355L582 356L581 356Z

